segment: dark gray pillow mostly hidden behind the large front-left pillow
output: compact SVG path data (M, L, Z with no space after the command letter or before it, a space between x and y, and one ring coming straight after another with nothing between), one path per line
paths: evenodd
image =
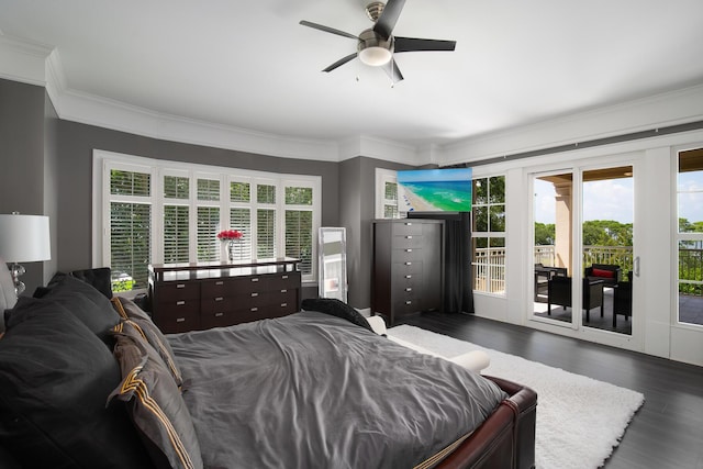
M16 320L13 319L15 312L26 308L34 308L34 304L37 303L51 302L66 308L112 348L114 342L110 330L120 322L120 314L114 311L110 300L93 287L77 278L63 275L60 277L56 276L55 279L57 280L43 291L41 298L20 298L14 311L8 319L7 327L10 328L12 324L16 323Z

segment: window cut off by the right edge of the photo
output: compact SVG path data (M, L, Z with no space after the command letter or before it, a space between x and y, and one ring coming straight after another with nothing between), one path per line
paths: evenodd
M679 322L703 325L703 148L679 153Z

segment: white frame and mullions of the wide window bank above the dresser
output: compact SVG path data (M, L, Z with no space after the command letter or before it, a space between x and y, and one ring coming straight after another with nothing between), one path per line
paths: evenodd
M149 197L122 197L110 193L110 171L112 169L145 172L150 178L150 196ZM275 253L276 257L283 257L286 253L286 201L284 193L287 187L305 187L312 189L312 204L304 205L305 210L312 212L312 259L310 264L311 271L302 275L303 283L316 283L317 266L314 261L317 249L317 231L321 226L322 215L322 177L314 175L290 175L267 172L259 170L246 170L233 167L220 167L211 165L201 165L196 163L181 163L165 159L155 159L141 157L135 155L125 155L120 153L93 149L93 185L92 185L92 265L93 267L103 267L111 265L111 244L110 244L110 203L124 199L127 202L135 203L137 200L148 203L152 206L152 225L150 225L150 264L163 264L164 261L164 205L178 202L189 206L189 261L196 261L198 250L198 208L199 206L219 206L220 209L220 226L221 230L236 228L230 226L230 210L232 208L249 208L252 220L252 245L256 241L256 211L258 208L269 208L276 210L275 217ZM166 199L164 197L164 177L165 176L182 176L188 175L189 198L183 199ZM220 180L220 200L199 200L198 199L198 179L217 179ZM231 182L249 182L250 200L248 203L231 202L230 187ZM275 203L257 203L256 201L256 183L266 183L275 186L276 202ZM301 206L301 205L295 205ZM225 256L225 247L220 246L220 257ZM143 292L144 289L132 290L134 293Z

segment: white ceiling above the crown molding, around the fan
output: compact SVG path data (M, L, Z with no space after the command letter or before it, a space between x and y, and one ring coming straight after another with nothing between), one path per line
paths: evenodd
M408 0L395 35L457 41L358 59L366 0L0 0L5 37L55 49L66 91L287 138L444 145L703 83L701 0Z

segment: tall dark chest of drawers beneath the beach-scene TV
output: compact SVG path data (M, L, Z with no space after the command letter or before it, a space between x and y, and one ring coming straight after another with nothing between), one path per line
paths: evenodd
M443 311L444 221L377 220L371 310L393 325L399 317Z

